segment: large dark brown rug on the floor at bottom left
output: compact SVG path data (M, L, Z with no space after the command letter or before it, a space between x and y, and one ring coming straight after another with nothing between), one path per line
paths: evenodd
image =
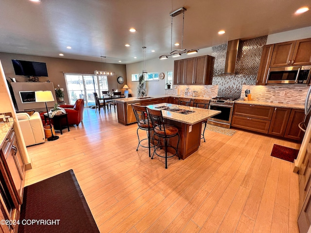
M18 233L99 233L73 170L24 188Z

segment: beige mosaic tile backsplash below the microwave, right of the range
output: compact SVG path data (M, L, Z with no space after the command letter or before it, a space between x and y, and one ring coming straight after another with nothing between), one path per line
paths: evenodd
M245 90L249 89L252 99L265 102L305 104L306 95L310 86L302 85L243 85L241 99L245 97Z

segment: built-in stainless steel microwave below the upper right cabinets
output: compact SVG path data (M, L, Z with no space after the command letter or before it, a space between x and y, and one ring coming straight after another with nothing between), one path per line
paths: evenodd
M311 66L270 67L267 84L308 84Z

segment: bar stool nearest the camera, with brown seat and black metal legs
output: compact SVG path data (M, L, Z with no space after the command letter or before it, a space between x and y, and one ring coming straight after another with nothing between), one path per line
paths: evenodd
M180 159L179 154L178 154L178 144L179 144L178 129L173 125L165 124L161 110L155 110L155 109L147 108L147 111L149 114L149 118L151 119L152 125L154 127L155 134L152 137L154 145L155 145L155 135L158 136L157 144L155 145L158 147L155 148L151 159L154 158L155 154L159 157L165 158L165 168L167 169L167 158L174 157L177 154L178 159ZM170 138L175 137L175 136L178 137L176 148L169 145ZM163 147L163 145L160 144L160 138L163 138L163 140L164 140L165 156L158 154L156 151L157 149L162 149L162 147ZM167 155L167 149L168 148L172 148L175 151L175 153L171 156L168 156Z

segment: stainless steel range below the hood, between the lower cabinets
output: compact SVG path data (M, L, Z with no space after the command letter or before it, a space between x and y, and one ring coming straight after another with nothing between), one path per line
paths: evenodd
M209 101L208 109L221 111L216 116L209 117L207 124L216 125L223 128L230 128L234 101L224 97L215 97Z

